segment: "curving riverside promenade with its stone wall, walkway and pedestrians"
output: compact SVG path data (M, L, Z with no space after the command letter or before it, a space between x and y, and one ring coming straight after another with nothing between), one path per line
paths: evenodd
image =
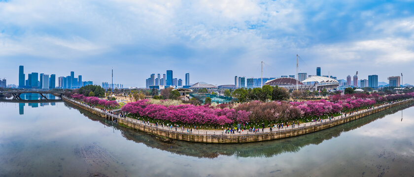
M65 102L69 102L71 104L74 104L77 107L80 107L84 110L87 110L89 112L92 112L98 116L101 116L103 118L114 120L116 119L118 123L126 125L128 127L144 131L150 134L163 136L167 138L172 138L176 140L183 140L183 141L190 141L190 142L200 142L200 143L247 143L247 142L259 142L259 141L267 141L267 140L276 140L281 138L288 138L293 136L299 136L307 133L312 133L315 131L320 131L323 129L327 129L333 126L337 126L358 118L363 118L365 116L369 116L375 113L378 113L380 111L392 108L394 106L403 105L407 103L414 103L414 99L407 99L403 101L397 101L393 103L384 103L380 106L376 106L370 109L365 109L361 111L355 111L353 114L346 114L337 116L334 118L326 118L322 119L318 122L306 122L301 123L299 125L295 125L295 127L289 125L283 126L283 128L272 128L272 131L270 131L270 128L265 128L262 132L262 128L260 128L259 132L249 132L248 128L246 127L246 130L243 130L241 132L235 133L235 134L226 134L224 133L224 130L221 129L215 129L215 130L206 130L206 129L194 129L192 133L187 133L187 128L182 129L181 127L177 127L175 130L175 127L173 126L170 128L169 126L162 126L162 125L156 125L154 123L149 123L140 119L135 118L128 118L128 117L119 117L116 114L111 114L107 111L102 111L98 108L92 108L88 105L85 105L81 102L78 102L76 100L70 99L68 97L62 98ZM247 125L255 126L256 128L259 128L261 125L256 124L249 124Z

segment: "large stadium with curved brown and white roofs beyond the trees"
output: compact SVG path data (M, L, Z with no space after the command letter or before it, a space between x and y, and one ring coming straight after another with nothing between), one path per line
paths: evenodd
M306 85L303 83L307 83ZM270 80L266 82L265 85L270 86L278 86L285 89L291 89L294 90L296 88L300 90L322 90L322 89L337 89L339 86L339 83L337 80L323 77L323 76L311 76L308 79L305 79L304 81L300 82L297 79L294 78L277 78Z

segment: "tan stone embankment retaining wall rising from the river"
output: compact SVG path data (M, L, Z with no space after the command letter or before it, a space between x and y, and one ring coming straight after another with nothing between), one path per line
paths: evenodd
M64 101L70 102L75 105L79 105L67 99L64 99ZM139 131L143 131L143 132L147 132L150 134L163 136L167 138L172 138L176 140L182 140L182 141L199 142L199 143L248 143L248 142L260 142L260 141L276 140L276 139L281 139L281 138L289 138L289 137L304 135L304 134L324 130L330 127L334 127L334 126L337 126L337 125L340 125L340 124L343 124L343 123L346 123L346 122L349 122L349 121L352 121L358 118L363 118L365 116L378 113L380 111L389 109L391 107L395 107L395 106L399 106L399 105L407 104L407 103L413 103L413 102L414 102L414 99L410 99L410 100L395 103L392 105L386 105L386 106L383 106L383 107L380 107L374 110L370 110L367 112L348 116L346 118L340 118L340 119L336 119L336 120L332 120L329 122L324 122L324 123L316 124L312 126L284 130L284 131L274 131L274 132L269 132L269 133L256 133L256 134L248 134L248 135L189 134L186 132L182 133L182 132L176 132L176 131L171 131L171 130L163 130L163 129L156 128L153 126L139 124L133 121L129 121L128 119L123 119L123 118L118 118L118 123L122 123L128 127L137 129ZM101 117L104 117L104 118L107 117L106 115L94 109L91 109L87 106L80 105L78 107L81 107L82 109L85 109L87 111L91 111L92 113L97 114Z

